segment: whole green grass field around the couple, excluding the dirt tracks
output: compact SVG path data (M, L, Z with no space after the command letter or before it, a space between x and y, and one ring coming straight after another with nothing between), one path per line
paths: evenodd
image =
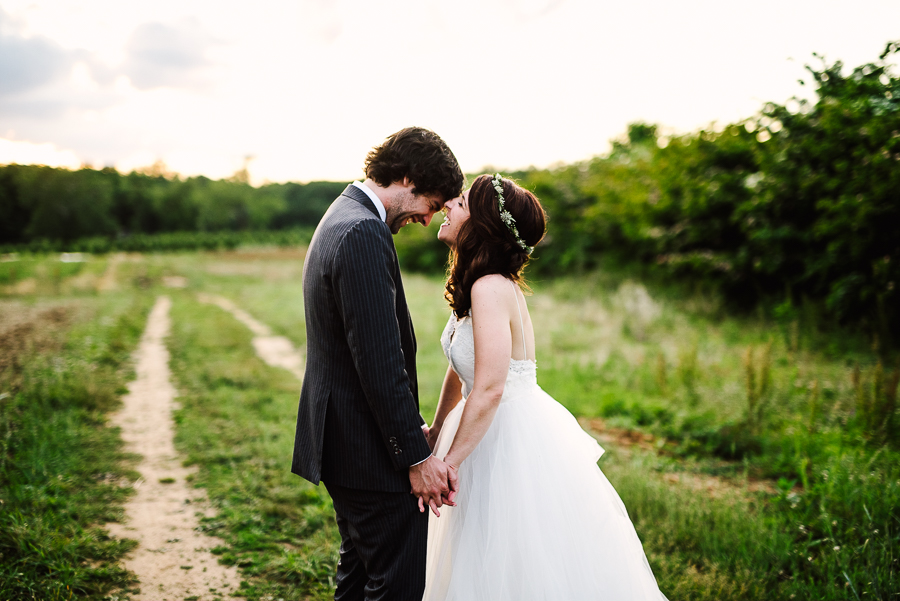
M218 510L202 528L248 599L326 599L330 500L289 473L299 383L256 357L224 296L300 349L302 250L0 263L0 598L127 598L117 563L134 458L105 415L159 294L177 445ZM71 260L71 258L69 258ZM440 278L406 274L422 412L446 362ZM172 287L176 286L176 287ZM895 599L897 371L803 314L734 317L715 298L608 270L532 282L538 380L607 449L670 599Z

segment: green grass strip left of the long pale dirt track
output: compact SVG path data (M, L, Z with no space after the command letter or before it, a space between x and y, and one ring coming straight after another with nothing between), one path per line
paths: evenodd
M136 478L106 415L148 305L125 295L65 307L74 323L22 331L26 350L0 373L2 599L102 599L135 581L119 564L134 541L102 528L122 518L121 483Z

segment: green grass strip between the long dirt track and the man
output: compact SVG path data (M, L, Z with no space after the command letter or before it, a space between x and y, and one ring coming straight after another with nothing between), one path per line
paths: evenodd
M298 381L262 363L231 315L186 294L173 301L176 444L219 509L202 524L227 542L214 552L242 569L249 598L328 598L337 564L331 500L290 473Z

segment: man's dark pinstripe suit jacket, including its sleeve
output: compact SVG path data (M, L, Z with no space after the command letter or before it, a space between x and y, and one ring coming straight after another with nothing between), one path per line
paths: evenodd
M388 226L355 186L332 203L303 265L306 375L291 471L314 484L409 492L422 433L416 339Z

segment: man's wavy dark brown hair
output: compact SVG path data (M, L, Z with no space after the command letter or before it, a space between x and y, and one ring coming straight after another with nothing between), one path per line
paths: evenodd
M424 127L407 127L388 136L366 156L366 177L387 188L404 177L413 194L440 194L445 201L462 193L466 178L447 143Z

